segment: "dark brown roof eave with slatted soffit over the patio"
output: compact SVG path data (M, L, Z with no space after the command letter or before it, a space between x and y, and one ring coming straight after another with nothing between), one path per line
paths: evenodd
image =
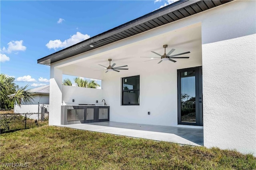
M217 3L217 5L216 4L214 4L214 5L215 6L219 6L221 4L224 4L224 3L230 2L230 1L232 1L232 0L218 1L218 3L221 2L220 4L218 4L217 1L215 1L214 3ZM106 32L98 34L98 35L96 35L96 36L94 36L92 38L89 38L89 39L84 40L82 42L76 43L76 44L74 44L74 45L72 45L70 47L67 47L67 48L62 49L60 51L57 51L57 52L52 53L50 55L47 55L46 57L38 59L38 63L39 64L44 64L44 65L50 65L51 63L54 63L56 61L60 61L62 59L66 59L68 57L72 57L74 55L77 55L77 54L80 54L80 53L84 53L86 51L90 51L90 50L96 49L98 47L102 47L104 45L98 46L98 47L90 47L89 45L91 43L97 43L97 41L103 40L104 38L115 36L115 34L121 33L123 31L127 31L128 29L130 29L130 28L132 28L134 26L139 26L140 24L144 24L144 23L149 22L151 20L154 20L154 19L156 19L158 17L164 16L166 14L170 14L171 12L175 12L176 10L181 10L181 9L186 8L187 6L191 6L193 4L197 4L197 3L200 4L200 2L202 2L202 0L180 0L180 1L176 1L176 2L174 2L174 3L172 3L172 4L168 5L168 6L165 6L163 8L158 9L158 10L150 12L150 13L148 13L148 14L146 14L144 16L141 16L139 18L136 18L136 19L134 19L134 20L132 20L130 22L126 22L125 24L122 24L120 26L112 28L111 30L108 30ZM205 4L206 2L203 2L203 3ZM214 7L210 7L210 8L214 8ZM202 11L204 11L204 10L202 10ZM196 13L199 13L199 12L196 12ZM190 14L189 16L191 16L191 15L194 15L194 14ZM187 16L184 16L184 18L186 18L186 17ZM178 20L180 20L180 19L178 19ZM166 24L168 24L168 23L166 23ZM150 29L148 29L148 30L150 30ZM146 30L146 31L148 31L148 30ZM128 38L128 37L126 37L126 38ZM122 39L124 39L124 38L122 38ZM116 40L116 41L119 41L119 40ZM114 42L116 42L116 41L114 41ZM110 42L110 43L112 43L112 42ZM109 44L109 43L107 43L107 44ZM82 49L86 49L86 50L83 51L83 52L80 52L80 53L79 52L75 52L75 51L81 51L81 50L76 50L76 49L81 49L81 48ZM60 56L60 55L66 55L66 56Z

